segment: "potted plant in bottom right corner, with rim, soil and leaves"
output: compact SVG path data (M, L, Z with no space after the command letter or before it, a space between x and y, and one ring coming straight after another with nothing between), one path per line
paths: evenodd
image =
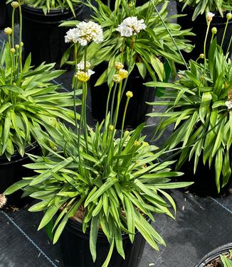
M232 244L226 244L214 249L201 258L195 267L231 267L232 266Z

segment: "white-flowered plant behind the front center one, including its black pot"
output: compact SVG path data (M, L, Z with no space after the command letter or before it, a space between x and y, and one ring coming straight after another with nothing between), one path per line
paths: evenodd
M163 2L158 1L157 4ZM171 66L174 73L174 62L184 64L179 50L191 50L188 40L184 40L184 37L191 33L189 30L180 31L177 24L169 23L172 16L167 16L167 2L162 5L159 13L154 11L154 6L150 1L137 7L132 6L131 1L117 1L118 6L113 11L102 4L102 1L97 1L97 4L98 7L95 7L88 1L88 6L94 12L94 20L104 29L105 41L99 44L93 43L88 48L88 60L91 60L91 65L97 72L97 75L90 80L92 114L98 121L104 119L107 85L110 85L112 81L114 62L120 61L131 72L127 89L124 89L124 92L130 90L134 95L127 110L125 126L127 129L135 129L137 125L145 121L145 114L151 111L151 107L145 102L154 100L155 89L145 87L142 85L143 82L157 79L167 80L170 72L166 73L165 77L165 68ZM75 26L75 24L63 23L68 26ZM136 24L139 25L139 30L137 32L130 30ZM144 31L141 31L143 27L145 27ZM123 33L124 28L127 28L127 33ZM132 57L130 57L131 48L133 49ZM67 58L65 53L63 59ZM167 61L166 64L164 64L164 58ZM127 97L124 94L122 105L125 105L126 101ZM117 125L119 128L122 117L123 110L119 114Z

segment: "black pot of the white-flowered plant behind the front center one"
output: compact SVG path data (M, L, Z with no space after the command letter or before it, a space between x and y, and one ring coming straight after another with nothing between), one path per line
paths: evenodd
M90 92L92 99L92 114L93 118L97 121L102 121L105 119L105 109L107 103L107 95L109 88L107 83L104 83L100 86L95 87L95 82L97 82L97 77L102 74L102 70L105 69L105 63L102 63L95 67L96 74L93 75L93 78L90 79ZM97 75L99 74L99 75ZM120 111L117 120L117 129L120 129L122 126L122 117L125 109L125 104L127 101L126 92L131 91L133 97L130 99L127 114L125 117L125 129L135 129L139 124L142 124L146 121L149 112L152 111L152 106L146 104L146 102L154 102L155 87L146 87L143 85L144 82L147 82L149 79L143 79L139 75L137 67L131 72L127 80L127 86L125 87L125 92L120 103ZM112 89L113 90L113 89ZM112 92L111 92L112 95ZM115 94L115 106L117 102L117 92ZM110 99L111 100L111 99ZM111 103L111 101L110 101Z

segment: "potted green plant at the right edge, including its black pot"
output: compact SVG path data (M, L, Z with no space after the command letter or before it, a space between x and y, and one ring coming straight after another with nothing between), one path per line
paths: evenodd
M204 51L206 54L206 45ZM157 126L160 135L167 126L174 124L174 131L164 147L181 147L176 168L185 172L184 178L195 181L193 190L199 195L216 195L222 187L226 191L225 186L230 185L231 75L231 60L223 55L214 38L208 59L201 54L196 62L190 60L189 70L179 72L178 80L146 84L170 88L164 92L162 101L151 103L167 105L167 110L149 116L163 118Z

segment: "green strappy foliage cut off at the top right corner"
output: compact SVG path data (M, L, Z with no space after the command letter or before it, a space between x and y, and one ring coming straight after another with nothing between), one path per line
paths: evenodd
M194 21L197 16L203 13L208 13L209 11L220 13L223 17L223 11L231 11L232 10L232 1L231 0L222 0L222 1L211 1L211 0L177 0L179 2L183 2L184 10L186 6L193 6L194 7L194 14L192 16L192 20Z

